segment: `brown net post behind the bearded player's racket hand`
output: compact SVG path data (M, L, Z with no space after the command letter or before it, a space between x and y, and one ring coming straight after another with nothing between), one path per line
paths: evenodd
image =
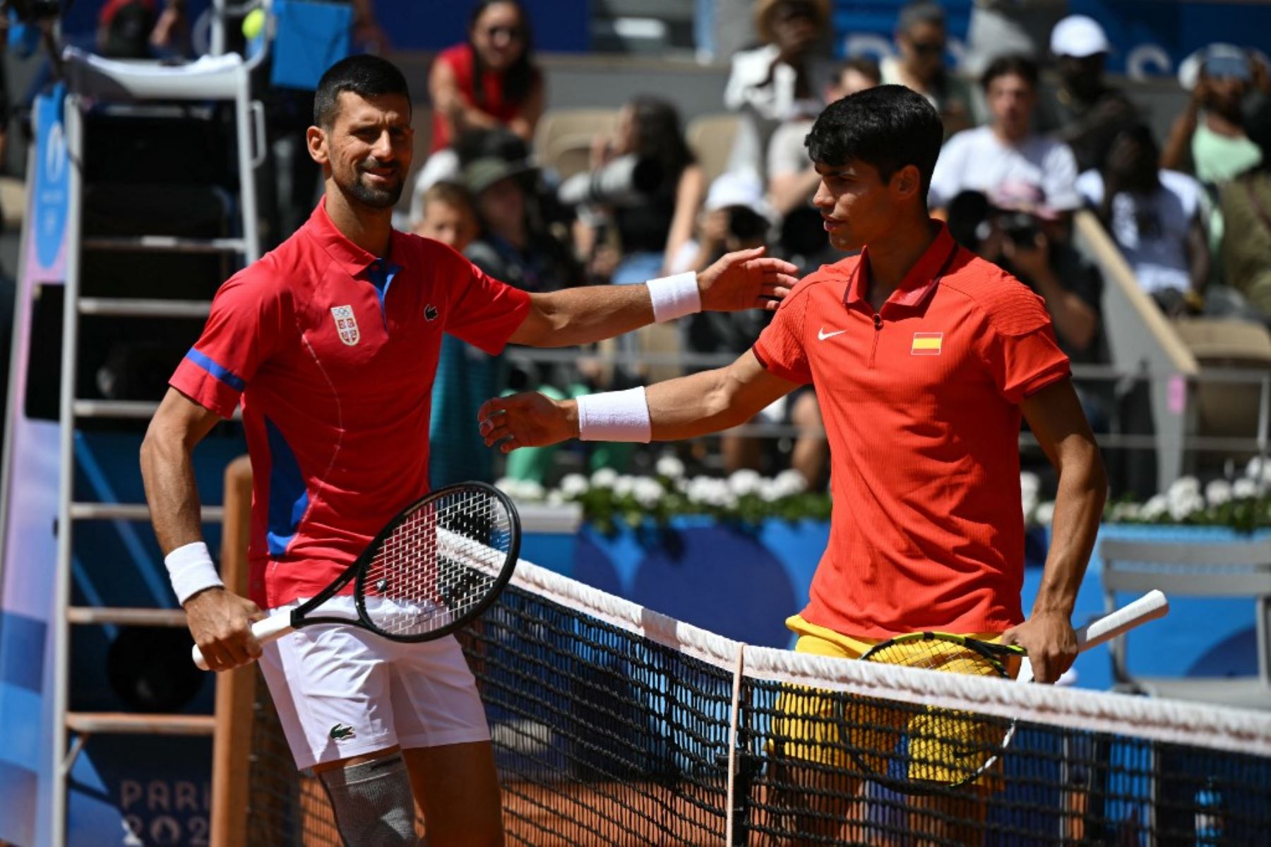
M221 525L221 580L235 594L247 594L250 533L252 463L243 455L225 468L225 521ZM247 773L255 677L254 664L216 674L210 847L247 844Z

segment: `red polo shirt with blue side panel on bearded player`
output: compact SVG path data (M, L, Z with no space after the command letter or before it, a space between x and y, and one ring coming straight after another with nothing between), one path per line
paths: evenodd
M394 231L377 259L325 201L221 286L172 385L222 417L241 397L253 600L313 596L428 491L442 332L496 354L529 303L431 239Z

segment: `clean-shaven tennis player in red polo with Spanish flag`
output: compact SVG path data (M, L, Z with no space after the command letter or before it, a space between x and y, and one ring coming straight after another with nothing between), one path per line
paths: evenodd
M859 256L802 280L727 368L577 401L492 399L480 427L505 451L568 437L688 439L812 383L834 513L810 602L789 621L797 649L855 658L897 633L974 633L1026 647L1037 679L1054 682L1075 658L1069 619L1104 472L1042 300L928 216L941 139L935 111L900 85L831 104L807 136L821 174L813 202L831 243ZM1027 621L1021 415L1059 471ZM838 834L830 820L808 815L801 832Z

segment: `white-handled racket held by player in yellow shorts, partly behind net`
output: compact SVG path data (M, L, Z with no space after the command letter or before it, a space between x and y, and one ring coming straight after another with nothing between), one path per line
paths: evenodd
M1077 630L1077 650L1096 647L1148 621L1164 617L1169 602L1149 591L1134 603ZM1032 680L1028 654L1017 645L1000 645L949 632L911 632L877 644L863 661L925 668L981 677ZM857 713L852 715L849 710ZM844 706L844 719L857 727L849 744L853 759L869 778L905 794L967 785L988 773L1010 744L1016 719L972 715L962 710L919 706L907 715L883 713L871 698ZM890 767L894 762L902 767Z

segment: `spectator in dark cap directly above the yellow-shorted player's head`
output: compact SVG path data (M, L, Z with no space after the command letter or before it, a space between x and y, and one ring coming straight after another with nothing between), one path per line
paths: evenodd
M933 0L915 0L900 10L899 56L882 60L882 81L905 85L925 97L944 122L944 137L975 125L971 86L944 64L948 47L944 9Z

